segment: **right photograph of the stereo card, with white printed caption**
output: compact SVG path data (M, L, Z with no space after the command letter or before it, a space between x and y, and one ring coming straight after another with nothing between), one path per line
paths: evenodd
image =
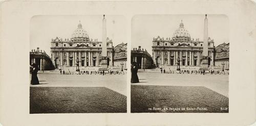
M132 18L131 113L228 113L229 20Z

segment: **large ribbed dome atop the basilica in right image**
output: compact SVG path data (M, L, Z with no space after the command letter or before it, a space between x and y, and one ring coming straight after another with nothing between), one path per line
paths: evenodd
M188 31L184 28L184 24L180 23L180 27L174 32L173 40L191 40L190 34Z

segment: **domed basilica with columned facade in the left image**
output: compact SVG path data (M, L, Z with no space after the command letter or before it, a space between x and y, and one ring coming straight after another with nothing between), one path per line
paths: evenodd
M113 42L106 40L108 66L113 65ZM90 39L79 23L71 38L56 37L51 40L51 60L55 68L76 66L100 66L102 41Z

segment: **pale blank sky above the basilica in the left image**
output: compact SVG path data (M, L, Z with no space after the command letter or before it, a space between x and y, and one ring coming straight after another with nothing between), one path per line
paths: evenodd
M126 18L122 15L105 15L106 34L113 45L127 42ZM79 20L89 38L102 41L102 15L37 15L30 20L30 51L39 47L51 56L51 40L56 37L71 38Z

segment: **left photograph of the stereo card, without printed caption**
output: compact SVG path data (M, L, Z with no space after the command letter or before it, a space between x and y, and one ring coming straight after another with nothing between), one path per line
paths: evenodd
M126 113L126 19L37 15L30 21L30 114Z

